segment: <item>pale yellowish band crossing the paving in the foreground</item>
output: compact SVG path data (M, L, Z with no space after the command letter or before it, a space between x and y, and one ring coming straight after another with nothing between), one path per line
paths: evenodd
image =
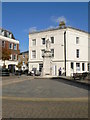
M25 97L11 97L2 96L2 100L13 100L13 101L30 101L30 102L88 102L88 97L80 98L25 98Z

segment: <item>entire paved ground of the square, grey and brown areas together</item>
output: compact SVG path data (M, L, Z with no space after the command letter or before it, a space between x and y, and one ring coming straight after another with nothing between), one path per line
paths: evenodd
M88 118L88 89L63 79L3 78L2 116Z

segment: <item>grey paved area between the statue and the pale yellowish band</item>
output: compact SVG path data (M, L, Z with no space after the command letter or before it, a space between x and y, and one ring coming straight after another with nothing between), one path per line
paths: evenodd
M21 80L22 81L22 80ZM66 98L66 97L88 97L88 90L68 85L55 80L24 80L22 82L3 86L3 96L17 97L44 97L44 98Z

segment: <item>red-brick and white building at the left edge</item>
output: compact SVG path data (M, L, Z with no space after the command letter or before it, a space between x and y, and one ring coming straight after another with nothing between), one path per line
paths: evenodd
M0 49L7 48L10 50L10 59L5 60L6 68L9 68L11 72L16 69L16 65L18 64L18 54L19 51L19 41L15 39L12 32L0 28ZM2 53L2 52L1 52ZM2 56L2 54L1 54ZM4 61L0 60L0 66L3 66Z

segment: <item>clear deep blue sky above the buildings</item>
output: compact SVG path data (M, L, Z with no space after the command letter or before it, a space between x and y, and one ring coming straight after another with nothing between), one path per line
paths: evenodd
M29 32L59 26L88 31L87 2L3 2L2 27L11 31L20 42L20 52L29 48Z

